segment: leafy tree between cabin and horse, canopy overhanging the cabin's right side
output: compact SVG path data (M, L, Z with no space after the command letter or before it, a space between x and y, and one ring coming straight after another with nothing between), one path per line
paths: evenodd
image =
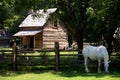
M86 8L88 0L58 0L60 19L75 32L78 54L83 49L83 35L86 28Z

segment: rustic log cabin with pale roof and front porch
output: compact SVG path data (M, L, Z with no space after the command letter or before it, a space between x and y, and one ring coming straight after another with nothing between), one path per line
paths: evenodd
M52 18L56 11L57 8L50 8L29 13L19 25L20 31L13 36L20 39L24 49L53 49L55 41L63 49L67 43L67 30L60 20Z

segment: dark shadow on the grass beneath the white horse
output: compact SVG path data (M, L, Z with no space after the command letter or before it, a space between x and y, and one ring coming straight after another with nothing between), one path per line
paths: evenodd
M72 67L72 66L71 66ZM59 73L54 73L63 77L77 77L77 76L82 76L82 77L90 77L90 76L95 76L96 78L104 77L104 76L111 76L111 77L120 77L120 70L114 70L110 73L106 73L102 70L102 73L97 73L97 68L91 68L91 72L86 73L84 71L83 66L76 66L76 67L66 67L63 68L59 71Z

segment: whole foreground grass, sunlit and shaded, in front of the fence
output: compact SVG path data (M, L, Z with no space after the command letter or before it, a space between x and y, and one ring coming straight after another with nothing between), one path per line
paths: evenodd
M38 55L38 53L34 55ZM111 64L110 73L105 73L103 69L102 73L97 73L97 66L93 62L89 66L91 72L86 73L83 63L71 65L69 63L71 59L76 58L62 58L63 62L69 65L62 65L60 71L56 71L55 66L20 66L16 72L11 71L10 68L3 68L0 69L0 80L120 80L120 66Z

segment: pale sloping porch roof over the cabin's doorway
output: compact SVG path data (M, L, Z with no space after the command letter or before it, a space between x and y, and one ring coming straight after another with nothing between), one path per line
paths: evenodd
M40 32L42 32L42 30L39 30L39 31L19 31L16 34L14 34L13 36L16 36L16 37L34 36Z

